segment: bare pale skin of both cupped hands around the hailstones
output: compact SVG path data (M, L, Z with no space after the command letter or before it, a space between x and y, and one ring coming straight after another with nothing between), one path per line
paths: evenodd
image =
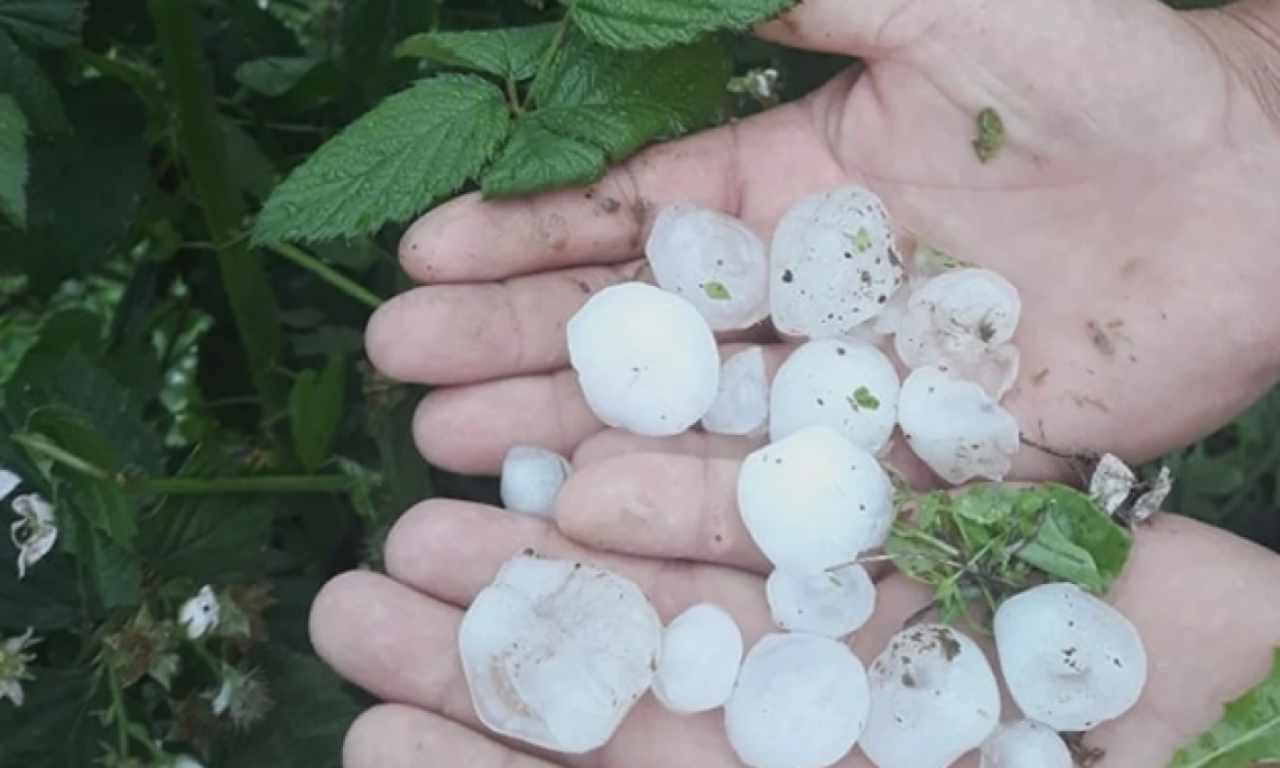
M710 600L748 643L769 631L767 566L733 498L754 445L605 430L566 367L566 320L590 292L644 278L640 248L664 204L714 206L767 234L809 192L870 187L906 232L1018 285L1023 366L1006 404L1038 443L1139 462L1251 404L1280 379L1272 19L1270 0L1230 14L1155 0L805 0L758 32L860 56L864 70L652 148L591 189L465 197L421 219L402 246L421 287L375 315L367 344L384 374L440 387L413 425L424 456L493 474L509 445L535 443L572 454L576 474L554 524L435 499L396 526L385 575L325 588L316 649L387 701L353 726L344 764L739 764L718 716L668 716L652 699L590 755L506 742L477 726L456 660L462 611L526 547L635 579L664 620ZM982 164L969 142L987 106L1007 140ZM771 347L774 365L783 355ZM1021 451L1015 479L1044 477L1070 475ZM1165 765L1280 644L1280 558L1174 515L1137 540L1111 600L1144 636L1149 681L1128 716L1089 736L1105 768ZM928 602L887 566L877 579L877 614L854 641L868 662ZM842 765L869 768L856 751Z

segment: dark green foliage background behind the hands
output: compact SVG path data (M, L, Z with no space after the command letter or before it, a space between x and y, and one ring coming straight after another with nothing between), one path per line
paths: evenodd
M151 765L166 753L215 767L339 764L366 701L315 659L311 598L339 571L378 567L388 526L415 502L495 492L421 461L408 425L424 392L381 380L362 356L371 307L408 287L396 261L403 221L351 212L347 224L367 234L302 250L252 239L255 216L321 145L442 68L394 55L402 41L561 10L0 0L0 466L52 500L61 525L55 554L26 580L0 538L0 636L44 637L26 704L0 701L0 768ZM602 19L603 35L626 37ZM735 74L776 67L783 99L847 64L723 42ZM516 59L492 67L532 74ZM654 91L650 111L623 125L657 114L643 131L567 136L573 120L556 123L554 110L572 118L586 97L568 74L556 82L559 95L544 87L538 99L550 114L522 115L516 136L562 180L590 178L663 131L762 106L714 88L687 101ZM716 114L680 111L703 102ZM602 146L604 136L623 138ZM554 180L530 177L521 157L498 160L486 189ZM447 196L458 183L424 175L412 192ZM401 218L419 202L401 200ZM1272 396L1170 457L1169 506L1276 547L1276 435ZM156 628L204 584L238 612L238 628L196 643ZM180 658L168 687L146 676L166 653ZM274 705L241 727L212 718L224 666L255 671Z

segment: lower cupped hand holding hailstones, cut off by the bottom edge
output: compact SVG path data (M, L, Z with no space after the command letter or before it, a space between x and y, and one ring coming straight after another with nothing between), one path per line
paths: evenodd
M690 439L700 440L681 438ZM739 461L726 456L731 451L605 443L566 488L558 529L492 507L426 502L392 531L388 575L351 572L324 589L311 622L317 652L384 701L349 731L346 768L740 767L722 713L672 716L652 695L608 745L580 756L504 741L472 709L458 625L476 593L525 548L632 579L663 621L712 602L737 618L748 648L772 631L767 567L732 507ZM1220 717L1224 701L1266 673L1270 649L1280 644L1277 580L1280 559L1219 530L1175 516L1139 529L1110 602L1142 634L1149 677L1134 709L1087 737L1085 746L1105 751L1097 768L1162 768ZM890 570L877 572L877 591L876 613L851 643L864 663L929 602L923 588ZM998 663L989 644L986 650ZM1004 719L1016 717L1006 699ZM975 765L969 755L957 768ZM840 768L873 767L855 749Z

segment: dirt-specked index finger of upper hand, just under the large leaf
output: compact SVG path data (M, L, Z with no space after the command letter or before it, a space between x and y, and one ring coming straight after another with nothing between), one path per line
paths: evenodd
M785 106L650 147L585 189L461 197L410 228L401 261L424 283L618 264L643 253L654 212L668 204L737 214L767 237L794 200L840 182L824 134L805 110Z

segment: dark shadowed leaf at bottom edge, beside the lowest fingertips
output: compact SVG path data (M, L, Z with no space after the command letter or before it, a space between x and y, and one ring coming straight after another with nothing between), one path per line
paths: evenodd
M311 657L280 648L260 659L275 703L259 724L218 742L218 765L340 768L342 741L360 713L338 677Z

